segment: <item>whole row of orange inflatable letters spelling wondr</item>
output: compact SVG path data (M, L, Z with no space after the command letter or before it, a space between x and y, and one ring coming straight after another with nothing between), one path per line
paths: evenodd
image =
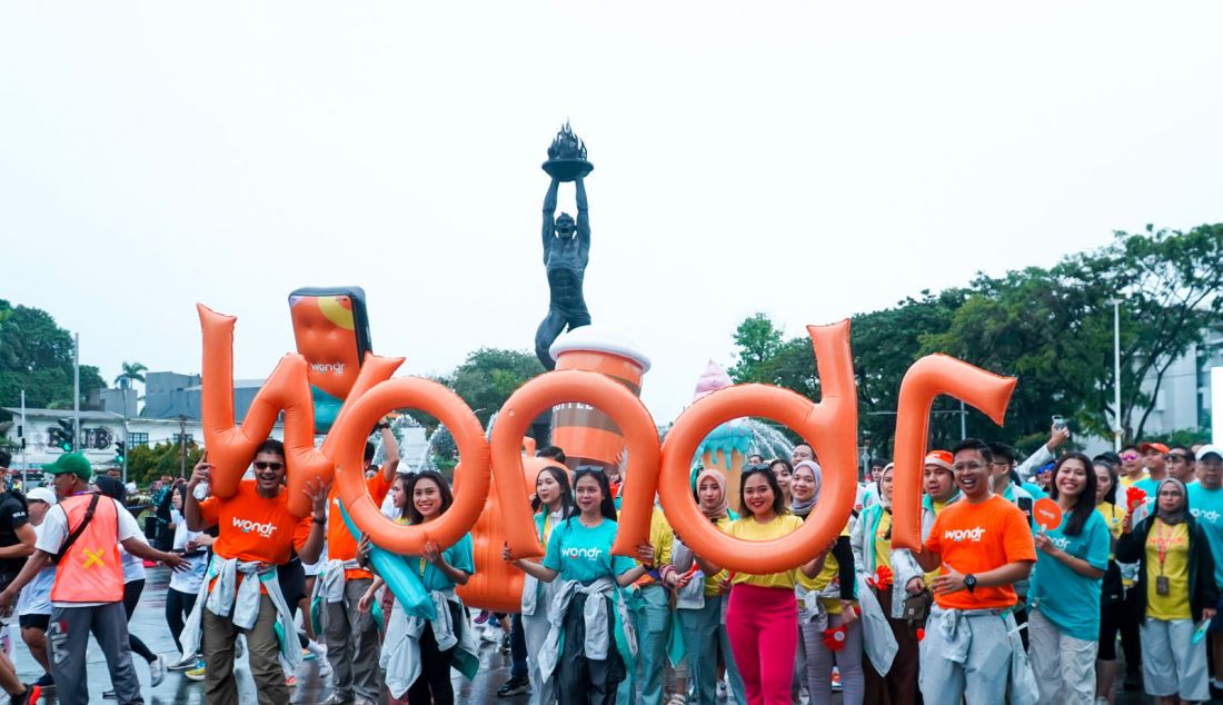
M767 384L737 384L686 409L659 443L657 426L641 400L621 384L580 370L541 375L519 388L498 414L486 441L475 414L450 389L421 378L390 376L402 364L367 352L351 392L320 448L314 447L314 411L306 359L285 355L273 370L241 426L234 421L235 317L197 306L203 332L203 432L214 464L213 492L232 496L254 455L284 411L289 509L309 512L302 492L311 477L331 480L353 523L378 546L419 554L424 542L457 542L471 531L493 482L505 542L516 556L542 556L523 482L522 438L531 421L563 403L603 410L624 432L629 469L613 553L635 554L647 540L656 492L668 521L697 553L726 568L751 573L788 570L823 551L840 534L854 504L857 479L857 390L849 344L849 321L807 328L821 379L818 404ZM893 546L921 541L921 459L926 454L929 408L939 394L971 404L1000 423L1015 379L999 377L944 355L917 360L900 387L896 421L896 483ZM428 526L404 526L382 515L364 486L363 449L369 430L393 410L411 408L438 417L460 453L455 503ZM815 514L791 536L745 541L717 530L692 499L690 470L700 442L724 421L759 416L779 421L811 442L823 468Z

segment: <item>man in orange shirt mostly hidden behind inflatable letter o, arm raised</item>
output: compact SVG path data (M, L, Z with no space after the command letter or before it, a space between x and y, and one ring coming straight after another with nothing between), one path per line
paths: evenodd
M390 423L378 423L382 431L386 461L378 469L373 464L374 444L366 443L366 488L375 505L382 505L399 469L399 446ZM324 703L364 705L378 701L378 624L372 612L357 608L361 597L373 583L373 573L357 563L357 540L340 518L340 497L333 492L330 526L327 531L327 563L314 579L314 599L319 599L319 621L327 643L327 660L331 665L331 696Z

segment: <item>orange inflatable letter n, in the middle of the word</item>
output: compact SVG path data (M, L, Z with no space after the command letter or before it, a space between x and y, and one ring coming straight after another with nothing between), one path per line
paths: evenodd
M493 476L501 503L505 540L520 558L543 556L522 485L522 436L539 414L566 401L600 409L629 442L629 470L612 552L636 556L637 546L649 537L649 515L658 481L658 427L641 400L623 384L598 372L581 370L554 371L531 379L505 400L493 423Z

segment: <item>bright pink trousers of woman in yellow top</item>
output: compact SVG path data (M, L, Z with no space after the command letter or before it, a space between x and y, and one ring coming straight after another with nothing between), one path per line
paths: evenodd
M726 634L748 705L790 705L799 647L794 590L735 585L726 607Z

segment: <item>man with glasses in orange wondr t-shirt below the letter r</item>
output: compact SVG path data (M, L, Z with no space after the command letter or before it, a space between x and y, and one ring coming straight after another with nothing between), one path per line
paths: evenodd
M938 514L914 554L923 570L942 567L921 643L922 698L928 705L1035 703L1011 613L1014 584L1036 562L1032 532L1024 513L989 488L989 446L969 438L954 457L963 499Z

